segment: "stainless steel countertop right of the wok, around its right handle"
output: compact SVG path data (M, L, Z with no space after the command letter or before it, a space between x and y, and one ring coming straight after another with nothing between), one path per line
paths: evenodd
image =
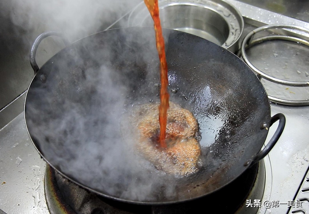
M270 195L264 195L265 199L280 203L287 203L294 199L303 177L309 167L309 106L292 107L271 104L271 114L283 113L286 116L286 126L284 131L269 152L272 167L272 183ZM276 127L276 124L273 125ZM274 128L269 129L266 139L272 136ZM266 174L266 176L270 176ZM305 206L306 203L303 203ZM277 208L269 208L265 213L287 213L286 204L281 204Z

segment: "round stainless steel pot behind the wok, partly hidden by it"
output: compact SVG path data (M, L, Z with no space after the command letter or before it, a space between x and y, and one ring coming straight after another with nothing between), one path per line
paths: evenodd
M238 51L244 24L242 15L230 3L223 0L161 0L159 10L163 28L197 35L231 52ZM130 13L128 26L153 26L143 2Z

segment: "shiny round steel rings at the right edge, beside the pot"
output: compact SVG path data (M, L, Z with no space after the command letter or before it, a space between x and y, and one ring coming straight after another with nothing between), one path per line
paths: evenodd
M300 44L304 44L309 46L309 41L306 39L302 39L299 37L295 36L287 36L287 35L269 35L269 36L263 36L257 39L253 39L254 35L260 31L265 31L269 29L283 29L283 30L294 30L293 33L294 35L295 30L298 32L300 31L301 33L304 33L303 35L308 35L309 30L304 27L300 26L295 26L295 25L284 25L284 24L274 24L274 25L267 25L263 27L256 28L255 30L249 32L245 38L243 39L243 42L241 43L241 48L238 53L238 56L242 56L243 60L245 61L246 64L256 73L259 79L264 78L266 80L269 80L274 83L278 83L281 85L287 85L287 86L294 86L294 87L308 87L309 86L309 81L307 82L295 82L295 81L287 81L287 80L282 80L278 79L273 76L269 76L268 74L265 74L262 72L260 69L256 68L252 63L250 63L248 56L246 54L246 50L252 46L254 46L257 43L261 43L264 41L269 41L269 40L287 40L287 41L293 41L297 42ZM307 38L307 36L305 36ZM273 96L269 96L269 101L279 103L279 104L284 104L284 105L309 105L309 100L286 100L286 99L281 99Z

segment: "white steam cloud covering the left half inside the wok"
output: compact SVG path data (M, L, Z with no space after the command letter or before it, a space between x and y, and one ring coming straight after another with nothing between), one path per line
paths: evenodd
M121 76L109 66L90 66L84 79L79 72L76 78L74 72L59 72L55 79L47 77L43 88L30 91L27 125L43 156L68 177L107 195L141 201L156 201L158 191L162 197L173 195L175 186L168 181L173 177L135 149L137 137L126 113L134 100L131 71ZM152 85L155 94L158 87ZM135 102L149 99L141 96Z

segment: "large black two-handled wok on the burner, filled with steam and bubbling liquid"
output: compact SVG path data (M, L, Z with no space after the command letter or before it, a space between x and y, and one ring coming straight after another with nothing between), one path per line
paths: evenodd
M108 198L169 204L212 194L274 146L285 117L270 117L265 89L252 70L205 39L167 29L163 34L170 100L199 123L200 171L169 175L135 150L125 115L136 105L159 101L159 60L154 29L132 27L80 39L40 69L36 47L53 33L32 47L37 73L27 92L25 122L40 155L61 175Z

